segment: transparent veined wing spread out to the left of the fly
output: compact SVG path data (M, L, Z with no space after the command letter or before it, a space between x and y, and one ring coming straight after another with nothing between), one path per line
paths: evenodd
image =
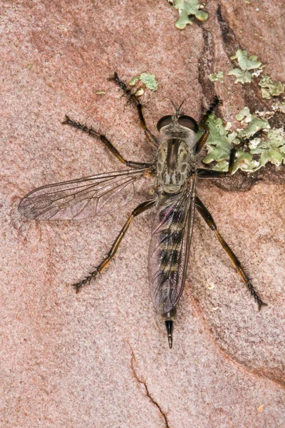
M32 190L19 211L36 220L80 220L103 215L130 202L150 168L113 171Z

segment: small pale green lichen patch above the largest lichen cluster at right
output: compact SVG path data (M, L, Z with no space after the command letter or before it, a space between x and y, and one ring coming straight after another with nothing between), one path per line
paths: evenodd
M259 76L263 71L263 65L261 61L257 61L256 55L248 56L247 51L238 49L236 54L231 57L232 60L237 60L240 68L232 68L229 70L229 76L235 76L236 80L234 83L250 83L252 77Z

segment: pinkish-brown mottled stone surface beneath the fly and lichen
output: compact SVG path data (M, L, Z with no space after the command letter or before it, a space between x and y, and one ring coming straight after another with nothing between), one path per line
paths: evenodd
M152 130L172 112L166 96L187 96L185 112L199 119L217 93L219 115L234 125L243 106L268 107L257 85L235 86L226 73L224 84L211 83L207 75L232 68L229 56L240 47L284 81L282 2L209 1L206 9L208 21L178 31L177 11L163 0L1 2L3 428L285 426L278 179L243 187L247 178L239 177L231 191L199 184L269 306L257 312L197 218L171 351L148 292L150 215L135 220L103 277L78 295L70 286L98 263L145 192L124 210L80 222L36 222L17 209L39 185L121 168L100 143L61 126L65 113L100 126L126 157L151 158L135 110L106 81L115 70L127 81L142 71L157 76L145 113ZM106 95L96 95L102 89Z

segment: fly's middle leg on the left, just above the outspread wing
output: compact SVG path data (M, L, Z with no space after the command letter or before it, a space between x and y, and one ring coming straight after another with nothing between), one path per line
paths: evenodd
M104 134L100 134L96 131L94 131L93 128L88 128L87 126L81 125L79 122L73 121L71 118L69 118L66 115L66 118L63 122L61 122L63 125L69 125L73 126L73 128L79 129L80 131L84 133L88 133L89 136L93 138L98 138L98 140L102 141L103 144L105 144L105 147L108 148L108 150L113 153L113 155L124 165L130 166L131 168L148 168L151 164L150 163L142 163L142 162L133 162L133 161L126 161L125 158L119 153L119 151L113 146L113 144L108 140Z

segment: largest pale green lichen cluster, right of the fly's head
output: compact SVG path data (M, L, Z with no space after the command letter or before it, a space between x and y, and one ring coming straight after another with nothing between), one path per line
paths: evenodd
M268 162L276 166L285 163L285 132L282 128L271 129L267 121L252 115L247 107L236 118L246 128L229 132L229 127L224 126L221 119L209 116L207 126L210 133L206 144L208 153L203 159L204 163L214 162L214 170L227 170L231 148L242 142L247 142L247 149L237 149L233 172L241 169L253 173ZM259 131L264 133L253 138Z

